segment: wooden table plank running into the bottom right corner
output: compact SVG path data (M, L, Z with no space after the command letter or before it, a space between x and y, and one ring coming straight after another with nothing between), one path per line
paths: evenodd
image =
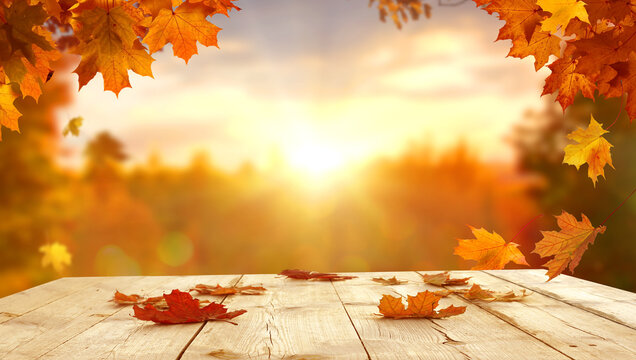
M485 272L454 273L494 291L525 289ZM574 359L636 359L636 331L541 293L516 302L471 302Z

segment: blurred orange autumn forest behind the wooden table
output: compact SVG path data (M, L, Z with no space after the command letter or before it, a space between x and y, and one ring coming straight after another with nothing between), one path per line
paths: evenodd
M636 131L625 116L608 136L617 169L608 180L595 189L585 169L561 164L565 135L590 113L613 121L618 101L577 100L565 116L546 102L520 115L509 139L516 164L481 162L461 142L441 152L413 143L315 190L287 176L284 164L228 172L213 154L193 154L180 168L163 164L160 153L127 164L126 145L108 133L88 144L80 169L64 169L54 114L70 99L67 85L52 81L39 103L18 104L22 134L2 133L0 296L59 276L468 269L453 255L456 239L471 237L467 225L514 238L529 254L539 230L556 228L552 215L584 212L599 224L636 179ZM576 275L635 290L634 219L632 199ZM61 274L41 266L38 249L52 242L73 256Z

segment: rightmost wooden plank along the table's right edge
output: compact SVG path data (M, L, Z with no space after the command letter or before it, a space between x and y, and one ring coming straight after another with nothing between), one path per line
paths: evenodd
M636 294L629 291L568 275L559 275L546 282L545 270L486 272L636 330Z

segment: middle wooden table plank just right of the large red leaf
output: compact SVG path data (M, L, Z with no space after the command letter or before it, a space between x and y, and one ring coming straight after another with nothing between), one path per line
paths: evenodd
M262 284L265 295L228 297L245 309L238 326L208 322L183 359L367 359L360 339L329 281L245 275L241 285Z

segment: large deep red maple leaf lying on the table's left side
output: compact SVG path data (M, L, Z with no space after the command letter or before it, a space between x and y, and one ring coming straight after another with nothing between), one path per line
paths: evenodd
M172 290L170 294L164 294L163 297L168 304L167 310L160 311L152 304L147 304L143 309L134 305L133 311L135 314L133 316L140 320L154 321L160 324L185 324L221 320L236 325L236 323L229 320L247 312L246 310L227 312L227 308L223 304L214 302L205 307L200 307L198 299L192 298L192 295L187 292L176 289Z

